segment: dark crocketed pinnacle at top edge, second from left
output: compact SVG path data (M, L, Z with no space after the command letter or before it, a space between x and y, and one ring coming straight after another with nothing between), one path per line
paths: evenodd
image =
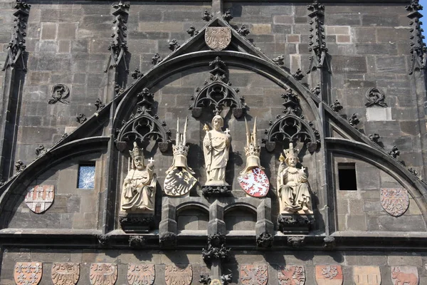
M108 50L110 51L110 57L108 58L107 67L105 68L105 72L108 71L109 68L115 68L122 61L125 65L125 71L129 71L126 62L126 54L127 54L127 16L129 15L130 4L123 4L122 1L119 4L112 4L112 7L115 9L112 12L112 15L115 16L114 21L114 32L112 33L112 41L110 46L108 46Z

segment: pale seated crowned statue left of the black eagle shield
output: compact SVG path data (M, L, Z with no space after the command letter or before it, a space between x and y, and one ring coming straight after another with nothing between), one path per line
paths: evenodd
M152 163L144 165L142 149L138 148L137 142L134 142L130 155L132 166L123 182L121 209L130 213L154 212L157 186L154 165Z

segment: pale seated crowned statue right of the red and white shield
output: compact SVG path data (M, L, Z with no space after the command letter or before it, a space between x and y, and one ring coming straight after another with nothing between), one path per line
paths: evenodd
M280 199L280 214L312 214L311 196L307 182L305 167L297 168L298 150L293 148L284 150L285 157L280 155L277 189Z

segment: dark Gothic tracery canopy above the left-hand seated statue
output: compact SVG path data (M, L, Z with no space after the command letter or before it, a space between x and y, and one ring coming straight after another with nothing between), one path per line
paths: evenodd
M127 122L123 122L122 128L118 130L116 138L117 149L121 152L126 150L130 142L145 140L156 140L161 152L166 152L169 149L169 130L164 127L166 123L159 122L157 115L151 114L151 107L154 103L154 94L150 93L147 88L137 95L139 101L137 108L130 115Z

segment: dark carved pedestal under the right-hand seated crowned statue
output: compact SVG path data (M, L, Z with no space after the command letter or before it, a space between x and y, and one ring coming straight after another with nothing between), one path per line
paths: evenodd
M279 214L278 230L283 234L307 234L315 224L314 214Z

